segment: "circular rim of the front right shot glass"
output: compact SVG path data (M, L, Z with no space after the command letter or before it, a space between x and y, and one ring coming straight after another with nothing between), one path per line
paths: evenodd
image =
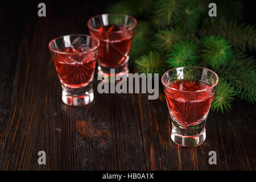
M212 73L216 76L216 81L214 82L213 85L210 85L209 88L206 88L206 89L203 89L203 90L196 90L196 91L177 90L177 89L175 89L175 88L171 88L170 86L167 86L167 85L164 83L164 81L163 81L163 77L164 77L164 75L166 75L167 72L173 71L174 69L177 69L177 68L201 68L201 69L207 69L208 71L212 72ZM166 86L167 88L169 88L169 89L172 89L172 90L175 90L175 91L179 91L179 92L204 92L204 91L206 91L206 90L208 90L208 89L213 88L214 86L216 86L216 85L218 84L218 75L217 75L215 72L213 72L212 70L208 69L208 68L196 67L196 66L177 67L177 68L172 68L172 69L170 69L170 70L164 72L163 75L162 75L162 77L161 77L161 82L162 82L162 84L163 84L164 86Z

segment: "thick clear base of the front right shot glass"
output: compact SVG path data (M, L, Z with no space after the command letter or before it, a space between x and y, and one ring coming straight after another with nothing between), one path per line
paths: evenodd
M195 147L202 144L206 138L205 122L193 126L181 126L172 122L171 139L174 143L183 147Z

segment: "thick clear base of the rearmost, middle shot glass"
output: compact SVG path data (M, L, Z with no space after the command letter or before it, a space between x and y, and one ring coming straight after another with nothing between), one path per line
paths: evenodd
M110 82L110 80L115 80L114 77L117 77L117 76L122 77L123 75L125 75L127 77L129 74L128 60L129 60L129 56L127 56L124 64L122 64L120 67L115 67L115 68L98 65L98 77L101 77L102 81L106 81L106 82ZM111 77L113 78L110 79Z

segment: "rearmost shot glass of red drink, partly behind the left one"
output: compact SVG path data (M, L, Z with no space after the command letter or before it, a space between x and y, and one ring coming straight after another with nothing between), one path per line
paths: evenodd
M101 14L87 22L90 35L100 40L98 75L104 78L128 75L128 60L137 20L123 14ZM114 69L115 75L110 74Z

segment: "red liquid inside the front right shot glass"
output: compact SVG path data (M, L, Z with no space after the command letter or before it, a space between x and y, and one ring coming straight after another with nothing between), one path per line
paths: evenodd
M179 125L190 126L207 117L214 93L210 85L201 81L176 81L164 90L170 115ZM204 90L201 92L195 92ZM180 92L191 91L191 92Z

